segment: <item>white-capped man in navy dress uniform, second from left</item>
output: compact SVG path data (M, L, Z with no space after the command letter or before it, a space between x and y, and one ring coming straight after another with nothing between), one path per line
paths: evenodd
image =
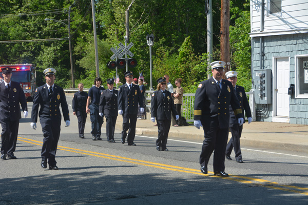
M44 70L46 84L35 90L30 124L31 128L35 130L38 114L44 135L41 166L44 169L47 168L48 160L50 170L59 169L56 166L55 154L61 131L60 105L65 127L70 125L65 93L63 88L54 85L55 72L56 70L53 68ZM40 110L38 110L38 107L41 107Z

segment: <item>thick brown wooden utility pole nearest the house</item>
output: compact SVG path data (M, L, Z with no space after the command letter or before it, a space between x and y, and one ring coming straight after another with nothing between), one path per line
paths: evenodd
M221 0L220 10L220 58L225 61L225 72L230 70L230 42L229 42L229 23L230 20L230 2ZM223 76L225 78L225 75Z

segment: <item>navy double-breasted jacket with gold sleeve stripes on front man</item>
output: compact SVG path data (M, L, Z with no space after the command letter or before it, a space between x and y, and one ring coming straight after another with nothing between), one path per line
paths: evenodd
M229 127L229 106L234 110L237 118L243 117L239 100L232 83L222 79L221 90L214 78L202 81L195 95L194 119L205 122L202 126L220 129ZM215 124L218 117L219 125Z

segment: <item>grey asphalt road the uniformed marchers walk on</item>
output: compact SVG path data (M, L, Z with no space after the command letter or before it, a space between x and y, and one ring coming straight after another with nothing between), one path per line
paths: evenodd
M131 147L116 130L117 143L109 144L105 124L103 141L92 141L89 121L80 139L70 113L70 127L62 119L59 170L40 167L40 123L32 130L30 118L21 119L18 159L0 161L0 204L308 204L307 152L243 147L245 163L225 163L230 177L213 176L213 159L203 175L201 141L169 138L170 151L158 152L157 136L136 136Z

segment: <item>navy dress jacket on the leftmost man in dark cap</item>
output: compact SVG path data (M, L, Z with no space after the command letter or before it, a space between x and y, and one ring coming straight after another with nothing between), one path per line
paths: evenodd
M5 83L0 83L0 119L14 121L22 118L21 108L28 111L25 93L20 84L11 81L9 95L6 92Z

